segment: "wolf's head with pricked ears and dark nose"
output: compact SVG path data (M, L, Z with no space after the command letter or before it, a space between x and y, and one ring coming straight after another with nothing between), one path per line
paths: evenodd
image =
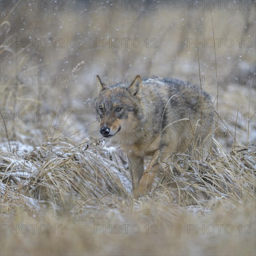
M141 77L137 75L131 84L106 86L97 75L98 97L94 100L95 112L99 117L100 133L112 137L119 133L132 132L136 127L135 116L140 115Z

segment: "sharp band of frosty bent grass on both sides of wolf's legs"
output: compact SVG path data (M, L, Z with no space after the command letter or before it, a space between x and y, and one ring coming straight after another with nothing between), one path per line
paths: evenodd
M34 214L47 208L76 215L102 205L118 208L133 199L126 158L114 157L115 148L102 141L77 146L77 141L59 138L33 150L22 145L23 154L19 144L10 144L12 152L5 143L1 149L2 212L22 206ZM169 201L193 213L208 213L226 201L242 207L255 199L255 152L247 147L205 161L189 155L170 159L162 163L164 171L158 173L151 193L135 202L134 209L145 200Z

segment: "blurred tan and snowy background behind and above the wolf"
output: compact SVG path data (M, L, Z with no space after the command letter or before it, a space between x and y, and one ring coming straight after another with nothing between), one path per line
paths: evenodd
M99 137L95 76L140 74L201 77L223 145L255 143L255 1L2 0L0 17L1 142L4 123L33 146Z

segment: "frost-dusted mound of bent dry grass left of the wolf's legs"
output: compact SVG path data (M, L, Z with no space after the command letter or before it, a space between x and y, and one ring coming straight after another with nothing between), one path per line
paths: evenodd
M27 154L1 150L1 204L25 202L26 209L35 211L38 206L51 206L72 212L78 206L127 197L123 184L130 184L125 160L97 155L98 141L88 142L89 148L65 141L45 143Z

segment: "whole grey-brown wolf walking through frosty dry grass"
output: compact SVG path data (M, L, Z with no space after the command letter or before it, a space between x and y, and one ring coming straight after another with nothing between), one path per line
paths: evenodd
M94 100L100 133L128 152L135 197L151 190L161 161L211 147L214 110L209 94L177 79L143 79L106 86L97 75ZM153 156L144 170L144 158Z

